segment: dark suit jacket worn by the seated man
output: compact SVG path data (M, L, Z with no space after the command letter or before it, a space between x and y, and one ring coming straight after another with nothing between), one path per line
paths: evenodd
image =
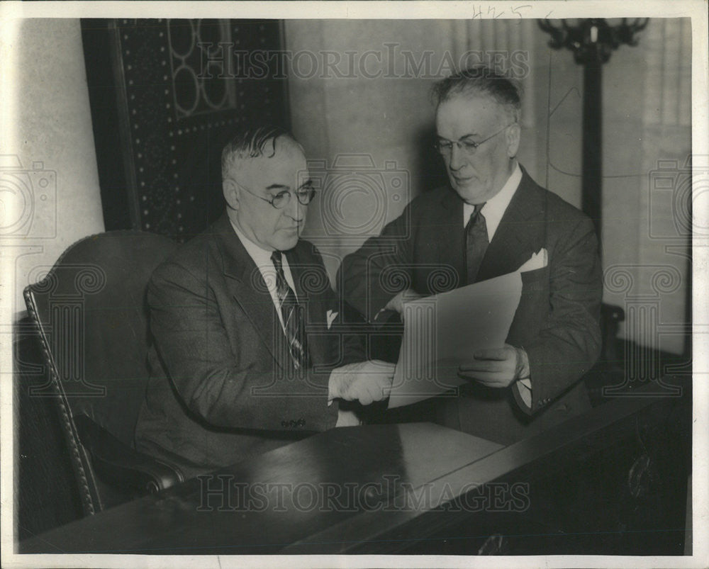
M364 354L328 310L341 313L320 254L286 252L306 308L312 367L298 376L271 295L226 215L184 244L147 288L152 375L138 449L186 477L228 466L335 426L330 371Z

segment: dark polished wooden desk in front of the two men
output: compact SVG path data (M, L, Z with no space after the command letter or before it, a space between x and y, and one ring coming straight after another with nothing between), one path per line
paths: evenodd
M565 486L558 475L563 480L574 465L593 464L615 449L616 458L599 466L618 470L625 483L625 461L631 466L635 461L637 437L647 425L668 432L667 425L679 424L679 410L687 415L687 401L691 393L620 398L505 448L430 423L334 429L48 531L20 543L19 553L476 553L481 546L491 547L486 538L498 530L527 532L533 539L520 542L527 543L522 548L527 553L545 547L552 547L546 553L562 553L558 543L547 539L549 532L556 537L579 533L576 526L563 527L570 518L598 532L605 518L600 526L593 522L597 504L586 504L596 526L586 517L574 521L573 512L562 512L565 505L573 508L574 502L565 500L571 500L574 483ZM691 419L691 405L688 409ZM678 476L686 480L686 468ZM515 500L515 484L518 490L524 488L520 484L527 490L533 484L533 492L525 497L518 491ZM598 484L589 486L588 495L601 500L610 490L603 480ZM496 494L486 492L489 488ZM673 488L674 503L681 486ZM413 500L407 502L412 490ZM428 502L422 498L426 492ZM608 507L615 512L617 506ZM608 515L615 519L612 512ZM467 531L465 548L446 546L461 528ZM577 539L563 543L579 546ZM638 547L642 543L647 536ZM513 548L513 553L520 551Z

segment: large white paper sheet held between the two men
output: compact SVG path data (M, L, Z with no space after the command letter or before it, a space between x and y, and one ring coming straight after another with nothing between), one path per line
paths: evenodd
M466 383L458 366L478 349L503 347L521 295L514 272L406 303L389 409Z

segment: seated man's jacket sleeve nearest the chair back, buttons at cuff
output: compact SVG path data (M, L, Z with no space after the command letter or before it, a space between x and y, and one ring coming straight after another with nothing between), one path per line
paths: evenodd
M233 303L233 315L220 311L208 271L198 276L177 262L163 264L151 278L147 302L162 365L192 414L227 428L323 431L335 426L338 405L328 405L331 370L304 370L305 377L293 381L277 378L272 354L250 325L238 329L250 351L235 354L223 319L237 317L240 307Z

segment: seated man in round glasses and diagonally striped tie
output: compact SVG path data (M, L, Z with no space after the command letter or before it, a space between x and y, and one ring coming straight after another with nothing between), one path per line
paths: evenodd
M306 434L359 424L340 400L387 397L393 366L363 361L312 244L315 191L302 147L246 130L222 154L226 212L180 247L147 288L154 345L139 450L186 478Z

